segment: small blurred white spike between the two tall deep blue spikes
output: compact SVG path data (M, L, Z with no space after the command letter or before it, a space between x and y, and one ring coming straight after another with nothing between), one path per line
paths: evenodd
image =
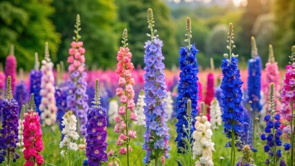
M212 129L218 129L218 127L222 125L221 115L220 103L214 98L210 105L210 122Z

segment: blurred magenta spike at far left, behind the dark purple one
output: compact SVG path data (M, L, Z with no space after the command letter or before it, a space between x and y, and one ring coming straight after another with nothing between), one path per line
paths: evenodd
M15 58L15 46L11 45L10 53L6 57L5 65L6 82L8 76L11 77L12 94L15 94L15 85L17 84L17 58Z

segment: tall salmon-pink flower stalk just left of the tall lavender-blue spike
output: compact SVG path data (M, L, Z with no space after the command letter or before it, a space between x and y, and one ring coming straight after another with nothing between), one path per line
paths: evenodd
M116 95L120 98L121 106L118 110L118 116L116 116L115 132L121 133L117 140L117 145L123 145L125 147L120 148L120 154L127 154L127 163L129 166L129 151L132 151L130 141L136 138L136 131L131 129L132 121L137 121L136 113L134 112L134 78L132 78L132 70L134 65L131 62L132 54L129 52L127 43L127 29L123 31L123 47L117 54L117 68L116 73L120 75L118 81L118 89L116 89Z

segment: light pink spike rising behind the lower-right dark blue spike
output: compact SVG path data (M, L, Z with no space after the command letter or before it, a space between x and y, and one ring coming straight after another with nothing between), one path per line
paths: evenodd
M271 82L274 82L274 88L277 89L275 92L275 111L280 111L280 71L278 70L278 62L274 59L274 50L271 44L269 44L269 60L267 64L265 64L265 84L263 86L263 92L265 96L269 96L269 88ZM265 98L265 104L267 109L269 109L269 105L267 102L267 98Z

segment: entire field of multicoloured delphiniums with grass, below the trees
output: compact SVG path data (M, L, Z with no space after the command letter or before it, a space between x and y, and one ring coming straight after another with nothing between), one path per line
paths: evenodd
M188 17L179 68L170 71L154 17L149 8L143 68L132 62L125 28L116 69L89 71L80 15L66 64L54 66L46 42L41 63L36 53L35 67L17 76L12 46L0 68L0 163L294 166L295 46L279 71L272 46L262 62L251 37L240 70L230 23L222 65L211 59L201 71Z

